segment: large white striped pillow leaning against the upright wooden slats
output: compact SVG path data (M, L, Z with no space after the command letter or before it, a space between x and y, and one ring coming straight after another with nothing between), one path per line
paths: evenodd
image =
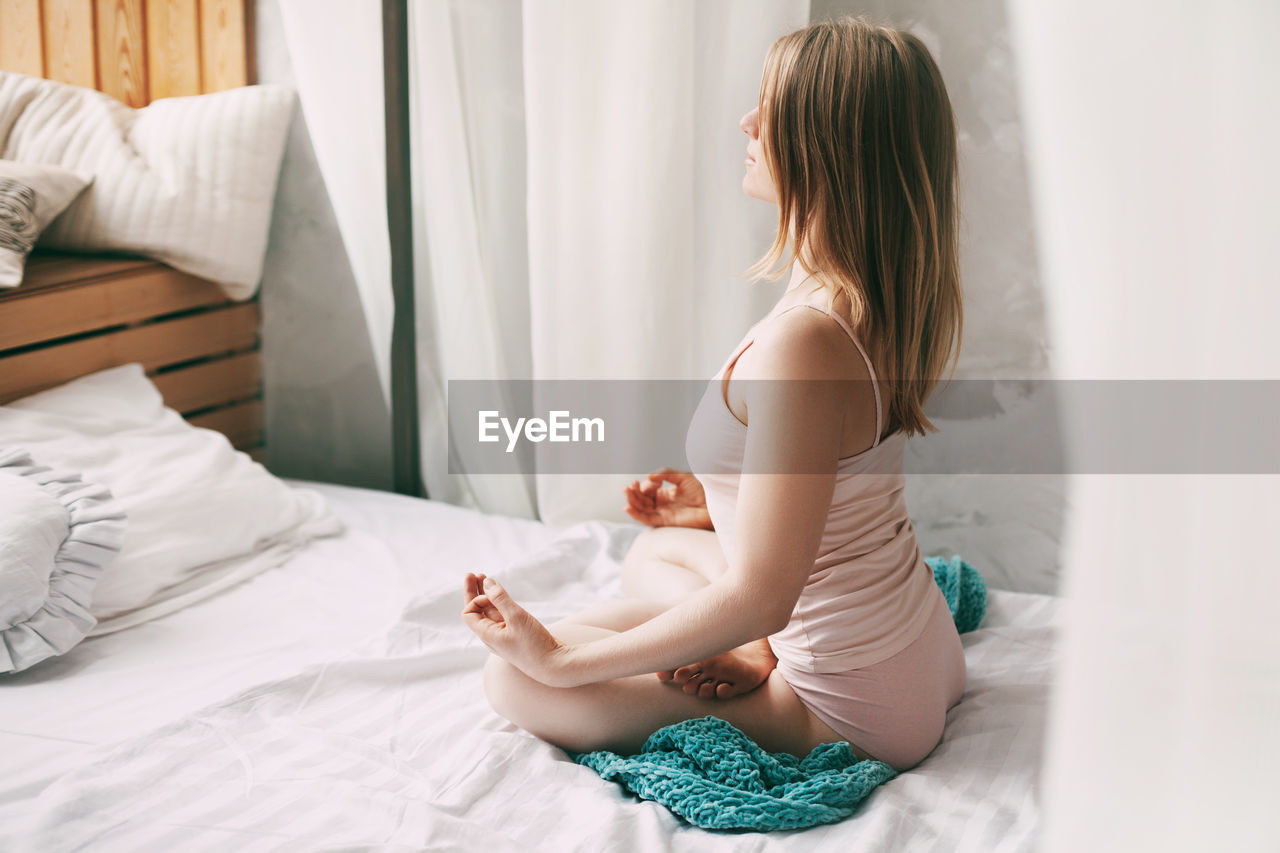
M41 246L137 252L248 298L262 277L293 102L285 86L244 86L134 110L91 88L0 72L0 156L93 175Z

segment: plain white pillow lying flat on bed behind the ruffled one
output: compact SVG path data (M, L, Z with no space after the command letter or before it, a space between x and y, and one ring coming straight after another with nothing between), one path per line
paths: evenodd
M137 364L0 406L0 444L83 471L129 516L93 594L92 635L207 598L342 532L319 493L285 485L221 433L166 409Z

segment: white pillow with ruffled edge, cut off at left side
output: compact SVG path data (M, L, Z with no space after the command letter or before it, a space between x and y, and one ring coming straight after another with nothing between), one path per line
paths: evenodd
M0 672L84 639L97 624L93 587L120 551L124 525L106 487L0 448Z

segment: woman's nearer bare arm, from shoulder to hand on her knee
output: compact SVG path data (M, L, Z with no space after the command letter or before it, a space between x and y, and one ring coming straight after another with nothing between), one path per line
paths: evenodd
M838 350L820 325L799 324L785 337L774 330L762 336L760 345L768 348L762 359L768 369L760 380L746 382L750 426L726 573L663 613L605 639L549 643L545 637L529 639L521 628L507 638L504 651L476 630L490 648L545 684L576 686L672 670L786 625L826 528L844 405L838 384L814 380L813 365L838 364ZM497 584L493 589L489 598L500 615L512 610L513 621L527 625L531 617L516 613L518 606ZM485 603L474 611L472 622L481 620ZM520 634L525 642L513 642Z

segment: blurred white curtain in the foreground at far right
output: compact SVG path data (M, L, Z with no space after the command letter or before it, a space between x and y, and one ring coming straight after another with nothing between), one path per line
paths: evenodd
M1280 5L1010 12L1057 377L1280 379ZM1042 849L1276 849L1280 478L1071 485Z

